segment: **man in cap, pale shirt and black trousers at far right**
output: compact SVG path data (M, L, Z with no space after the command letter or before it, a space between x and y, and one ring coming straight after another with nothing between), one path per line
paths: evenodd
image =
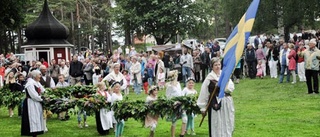
M309 48L304 51L298 51L298 55L305 60L306 80L308 87L308 94L319 94L319 60L320 50L316 47L316 40L311 39L309 42Z

